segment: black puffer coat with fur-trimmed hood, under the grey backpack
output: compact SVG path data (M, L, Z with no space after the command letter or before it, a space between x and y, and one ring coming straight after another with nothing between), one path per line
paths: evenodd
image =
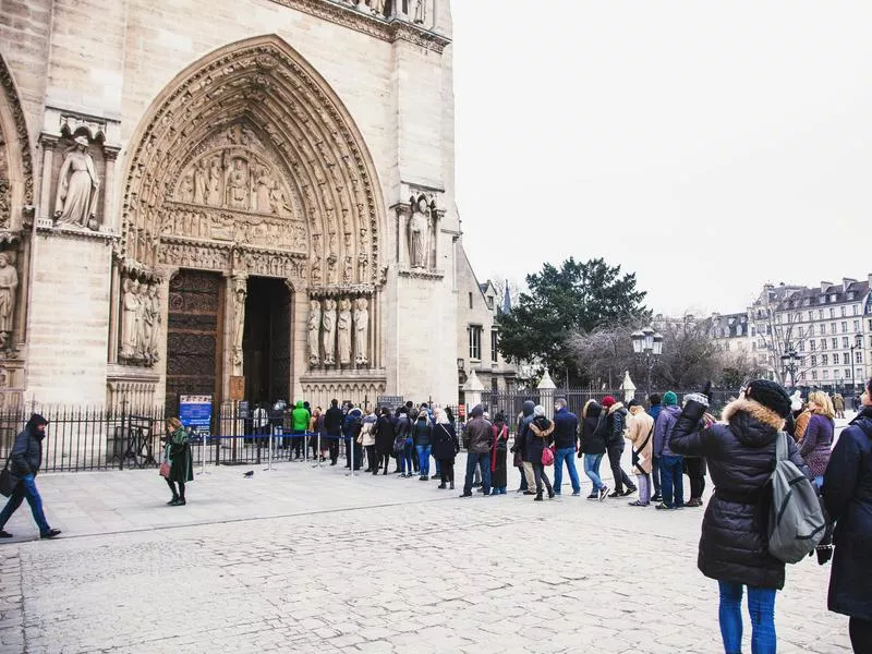
M740 398L724 409L724 423L703 429L705 407L689 401L673 429L677 455L705 457L715 494L705 509L697 565L711 579L764 589L784 588L784 562L768 553L767 493L775 446L784 420L771 409ZM663 415L661 415L663 420ZM811 479L794 443L788 457Z

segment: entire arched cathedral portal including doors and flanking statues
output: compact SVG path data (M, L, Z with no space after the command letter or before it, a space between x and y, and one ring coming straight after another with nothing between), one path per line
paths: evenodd
M130 152L110 348L121 366L155 371L168 405L197 386L185 361L198 387L211 372L218 399L232 377L290 400L307 376L384 376L375 168L302 57L275 36L207 56L155 100Z

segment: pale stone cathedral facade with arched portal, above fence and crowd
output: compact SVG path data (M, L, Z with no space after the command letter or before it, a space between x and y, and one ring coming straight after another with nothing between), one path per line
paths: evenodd
M456 402L450 44L447 0L0 0L0 401Z

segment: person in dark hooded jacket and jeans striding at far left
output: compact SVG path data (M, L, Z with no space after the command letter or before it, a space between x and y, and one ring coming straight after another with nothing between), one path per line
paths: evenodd
M14 480L17 480L9 501L0 512L0 538L11 538L12 534L3 528L9 522L12 513L21 506L24 499L31 505L31 512L39 526L40 538L53 538L61 533L59 529L51 529L43 512L43 498L36 489L36 475L43 465L43 439L46 437L46 425L48 421L34 413L24 427L24 431L15 436L15 445L9 456L10 472Z

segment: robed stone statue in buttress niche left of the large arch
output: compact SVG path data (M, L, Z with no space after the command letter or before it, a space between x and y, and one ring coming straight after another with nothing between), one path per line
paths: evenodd
M78 225L96 230L97 189L100 185L88 153L87 136L76 136L58 175L55 218L64 225Z

